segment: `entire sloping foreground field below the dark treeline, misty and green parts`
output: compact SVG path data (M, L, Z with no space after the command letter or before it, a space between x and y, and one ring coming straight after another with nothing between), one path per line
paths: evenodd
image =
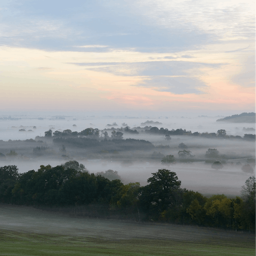
M252 234L73 218L0 204L0 255L255 255Z

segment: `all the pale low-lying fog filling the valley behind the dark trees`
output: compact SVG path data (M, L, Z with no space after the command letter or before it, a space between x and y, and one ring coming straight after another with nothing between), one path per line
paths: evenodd
M238 113L239 114L239 113ZM20 118L20 119L17 119ZM39 119L38 119L39 118ZM169 130L186 129L191 132L215 132L220 129L225 129L228 135L240 135L243 137L247 132L247 128L255 128L254 124L250 123L222 123L216 122L220 117L143 117L143 118L130 118L130 117L97 117L97 116L11 116L5 119L0 119L0 140L26 140L35 139L36 136L44 136L44 132L51 129L54 131L63 131L70 129L71 131L81 132L82 130L92 127L100 130L111 127L121 128L125 126L144 127L141 123L146 121L154 121L162 124L151 124L158 128L164 127ZM108 124L116 123L117 126L107 126ZM122 125L123 124L123 125ZM243 129L245 128L245 129ZM25 131L20 131L25 130ZM109 132L108 132L109 133ZM111 132L109 133L111 135ZM255 143L252 141L244 140L228 140L228 139L203 139L191 136L171 136L171 140L165 140L161 135L149 134L124 134L124 139L134 138L148 140L154 146L169 145L169 148L157 147L157 151L163 155L174 155L178 158L178 148L181 142L188 146L188 150L196 158L203 159L205 152L208 148L216 148L220 155L226 155L226 164L223 169L214 170L211 165L205 164L204 161L194 163L177 163L169 167L161 164L161 159L157 162L147 162L144 160L135 162L118 162L111 161L111 159L86 159L86 157L77 156L79 148L67 148L70 159L76 160L85 165L85 167L93 173L106 171L112 169L118 171L124 183L140 182L142 186L147 184L147 179L151 173L156 172L158 169L166 168L177 173L179 180L181 180L181 187L193 189L204 194L226 194L226 195L239 195L241 187L244 182L252 174L245 173L241 170L241 165L237 162L246 164L247 158L255 157ZM36 142L35 142L36 143ZM3 144L3 143L2 143ZM27 172L29 170L37 170L40 165L56 166L69 161L70 159L61 159L53 157L37 157L30 158L29 154L33 151L33 146L25 148L24 143L10 142L4 146L0 143L0 153L6 154L10 150L15 150L19 156L22 157L13 159L0 159L0 166L3 165L17 165L19 172ZM36 147L38 145L35 145ZM40 145L39 145L40 146ZM54 147L52 142L47 142L47 147ZM30 150L30 151L29 151ZM30 152L28 154L28 152ZM77 154L76 154L77 153ZM129 158L129 152L127 158ZM132 154L132 153L131 153ZM141 152L141 155L144 153ZM251 164L254 168L254 164Z

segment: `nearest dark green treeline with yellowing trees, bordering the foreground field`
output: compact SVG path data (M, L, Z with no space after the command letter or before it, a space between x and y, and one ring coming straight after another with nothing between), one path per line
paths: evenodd
M242 197L227 198L181 189L175 172L160 169L140 183L124 185L117 172L89 173L76 161L18 173L0 167L0 202L71 209L76 215L162 221L234 230L255 230L255 178L242 187Z

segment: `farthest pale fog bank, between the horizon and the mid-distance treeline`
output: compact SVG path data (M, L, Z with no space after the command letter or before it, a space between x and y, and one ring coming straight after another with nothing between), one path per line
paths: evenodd
M14 114L14 113L13 113ZM73 113L71 113L73 114ZM145 115L145 116L121 116L121 115L87 115L86 113L78 113L75 115L49 115L49 114L34 114L34 115L2 115L0 116L0 140L24 140L34 139L36 136L44 135L46 130L52 131L66 130L82 131L87 127L105 129L108 124L116 123L122 127L122 124L127 124L131 128L141 126L141 123L146 121L154 121L162 124L158 126L169 130L186 129L191 132L217 132L219 129L225 129L227 134L243 135L247 133L243 128L253 127L251 123L226 123L216 122L217 119L223 116L177 116L177 115L162 115L161 113ZM74 126L76 125L76 126ZM35 128L36 127L36 128ZM111 127L111 126L110 126ZM20 130L25 130L21 132Z

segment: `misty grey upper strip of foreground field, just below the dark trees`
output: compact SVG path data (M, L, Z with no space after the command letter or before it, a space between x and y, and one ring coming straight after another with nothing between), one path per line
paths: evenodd
M135 223L93 218L70 218L67 214L54 214L32 207L1 205L0 227L30 234L59 234L74 237L102 238L105 241L124 241L132 238L171 239L172 241L209 242L216 239L239 239L252 244L253 236L229 230L209 229L196 226ZM12 225L10 225L12 223ZM68 238L70 239L70 238ZM99 241L98 241L99 243Z

